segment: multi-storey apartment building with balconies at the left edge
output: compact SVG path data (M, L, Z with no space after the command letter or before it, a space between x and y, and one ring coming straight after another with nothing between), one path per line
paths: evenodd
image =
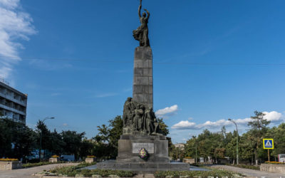
M4 80L0 80L0 112L3 117L26 124L27 100L27 94L11 88Z

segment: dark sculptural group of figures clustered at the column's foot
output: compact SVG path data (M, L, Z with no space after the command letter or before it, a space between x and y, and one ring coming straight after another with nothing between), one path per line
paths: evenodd
M124 130L130 134L160 135L159 123L152 108L147 108L132 98L125 101L123 125Z

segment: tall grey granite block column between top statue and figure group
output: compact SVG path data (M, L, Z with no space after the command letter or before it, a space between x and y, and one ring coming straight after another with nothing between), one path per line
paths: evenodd
M150 46L135 48L133 100L153 107L152 49Z

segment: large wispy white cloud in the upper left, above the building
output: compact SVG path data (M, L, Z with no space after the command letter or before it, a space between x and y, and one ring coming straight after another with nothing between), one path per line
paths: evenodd
M17 40L28 41L36 31L19 0L0 0L0 17L0 75L9 78L14 64L21 61L19 48L24 48Z

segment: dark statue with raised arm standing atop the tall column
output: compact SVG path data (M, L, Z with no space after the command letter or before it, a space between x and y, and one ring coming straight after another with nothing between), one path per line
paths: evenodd
M138 7L138 16L140 17L140 26L138 29L133 31L133 37L135 40L140 41L140 46L150 46L150 40L148 39L148 19L150 19L150 12L147 11L147 9L144 9L145 12L142 13L142 16L140 15L140 11L142 9L142 0L140 0L140 6Z

